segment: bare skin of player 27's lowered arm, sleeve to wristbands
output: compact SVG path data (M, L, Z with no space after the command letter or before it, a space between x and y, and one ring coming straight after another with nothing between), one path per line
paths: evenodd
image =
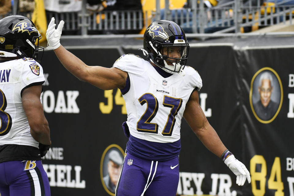
M194 91L192 93L190 100L186 104L183 116L193 132L205 145L205 147L216 156L221 157L222 153L227 148L223 145L223 142L220 140L216 131L206 119L204 112L199 105L199 97L197 91Z

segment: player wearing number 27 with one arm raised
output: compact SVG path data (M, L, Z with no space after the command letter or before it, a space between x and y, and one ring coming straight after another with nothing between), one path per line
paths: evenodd
M244 164L223 145L208 123L198 91L202 80L196 70L185 66L189 44L182 28L173 21L153 22L144 33L143 54L122 55L112 68L87 66L60 45L63 28L55 29L54 18L46 37L63 66L81 81L100 89L119 88L126 102L128 119L123 123L129 138L117 196L176 195L179 182L181 119L185 118L202 143L219 156L243 185L250 174Z

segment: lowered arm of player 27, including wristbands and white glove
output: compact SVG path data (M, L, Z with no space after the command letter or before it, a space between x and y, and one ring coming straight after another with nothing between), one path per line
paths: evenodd
M216 131L208 123L202 108L199 105L198 92L192 93L191 99L186 104L184 118L205 147L218 157L237 176L236 183L243 186L246 179L251 182L250 173L243 163L235 159L235 156L223 145Z

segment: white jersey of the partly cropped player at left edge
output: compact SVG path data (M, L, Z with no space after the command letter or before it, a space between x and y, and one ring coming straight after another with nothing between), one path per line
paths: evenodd
M30 134L21 93L31 85L44 83L43 68L32 58L0 64L0 105L6 105L5 109L2 108L6 115L1 116L0 145L29 145L39 149L39 143Z

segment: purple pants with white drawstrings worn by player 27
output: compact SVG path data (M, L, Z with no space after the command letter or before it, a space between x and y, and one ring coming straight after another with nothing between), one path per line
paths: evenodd
M127 153L115 195L175 196L178 183L178 156L167 161L151 161Z

